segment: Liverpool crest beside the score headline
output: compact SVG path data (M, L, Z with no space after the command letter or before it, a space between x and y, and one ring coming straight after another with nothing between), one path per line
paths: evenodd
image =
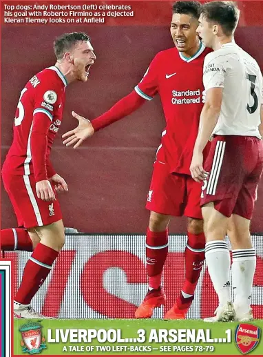
M23 353L39 354L42 349L47 348L45 345L45 338L41 334L41 325L39 322L28 322L22 325L19 329L23 340L21 340L21 347Z

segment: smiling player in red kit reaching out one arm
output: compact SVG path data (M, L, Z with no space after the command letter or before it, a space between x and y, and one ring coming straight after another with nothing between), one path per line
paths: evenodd
M165 318L186 317L204 261L201 186L191 178L189 171L202 110L204 57L211 52L196 33L199 10L198 1L176 2L170 29L176 48L158 53L134 91L92 123L73 113L79 125L63 135L67 137L64 144L76 148L94 131L129 115L154 95L160 95L166 127L157 150L146 205L151 211L146 235L149 291L135 312L136 318L149 318L154 308L165 305L166 296L160 284L168 253L167 226L171 216L189 218L186 280L176 304L167 311ZM204 155L206 152L204 150Z

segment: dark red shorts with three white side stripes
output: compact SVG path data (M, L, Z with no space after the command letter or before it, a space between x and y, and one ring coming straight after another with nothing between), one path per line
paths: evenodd
M250 220L263 170L262 141L215 135L204 169L209 175L202 186L201 206L213 202L226 217L234 213Z

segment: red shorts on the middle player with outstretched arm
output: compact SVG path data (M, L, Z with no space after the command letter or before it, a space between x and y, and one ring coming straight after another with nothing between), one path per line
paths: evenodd
M200 195L201 184L190 175L170 173L167 164L156 162L146 208L164 215L186 215L202 220Z

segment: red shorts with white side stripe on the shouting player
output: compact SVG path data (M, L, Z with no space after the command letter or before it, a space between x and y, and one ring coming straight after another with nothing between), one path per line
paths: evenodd
M34 175L2 173L2 178L17 216L18 226L25 228L45 226L62 219L58 200L45 202L36 196Z

